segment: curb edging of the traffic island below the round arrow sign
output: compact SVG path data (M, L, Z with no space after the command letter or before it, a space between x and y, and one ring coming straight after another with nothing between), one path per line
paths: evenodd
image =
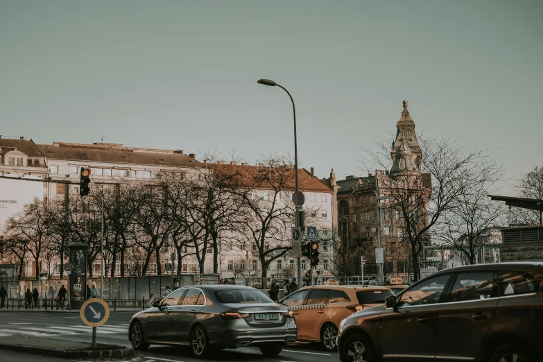
M17 352L26 352L40 354L42 356L61 357L61 358L81 358L90 359L101 358L120 358L131 357L134 355L132 348L119 347L115 350L59 350L55 348L34 347L31 345L5 345L0 343L0 349Z

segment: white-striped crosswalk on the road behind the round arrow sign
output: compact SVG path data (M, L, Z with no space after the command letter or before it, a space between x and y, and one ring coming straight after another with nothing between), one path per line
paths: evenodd
M128 334L129 325L102 325L96 328L96 334ZM0 329L0 337L4 336L35 336L35 337L52 337L52 336L79 336L82 334L92 334L92 327L86 325L24 325L21 327L10 326L10 329Z

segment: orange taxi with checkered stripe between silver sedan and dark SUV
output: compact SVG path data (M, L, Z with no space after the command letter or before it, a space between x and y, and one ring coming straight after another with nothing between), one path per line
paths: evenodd
M293 312L298 341L320 342L326 350L336 349L341 320L361 309L384 304L394 295L382 286L307 286L279 303Z

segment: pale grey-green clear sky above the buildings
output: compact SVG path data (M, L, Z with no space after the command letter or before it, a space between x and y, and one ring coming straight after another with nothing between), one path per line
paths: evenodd
M417 131L542 166L543 2L0 0L0 134L293 155L366 175L402 101Z

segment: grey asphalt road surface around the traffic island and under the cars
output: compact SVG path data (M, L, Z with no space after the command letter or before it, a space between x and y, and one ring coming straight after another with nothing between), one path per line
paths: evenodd
M105 325L98 327L98 343L124 345L128 341L128 323L135 312L112 312ZM2 311L0 312L0 338L2 336L40 336L43 338L62 339L63 341L90 342L92 328L83 324L79 313L54 313L46 311ZM194 359L188 347L151 346L147 351L135 351L135 358L130 362L331 362L339 361L337 353L325 352L316 345L285 347L277 357L266 357L258 348L238 348L222 350L208 359ZM24 354L20 352L0 351L0 362L50 362L58 358ZM62 359L62 361L70 361ZM80 360L85 361L85 360Z

